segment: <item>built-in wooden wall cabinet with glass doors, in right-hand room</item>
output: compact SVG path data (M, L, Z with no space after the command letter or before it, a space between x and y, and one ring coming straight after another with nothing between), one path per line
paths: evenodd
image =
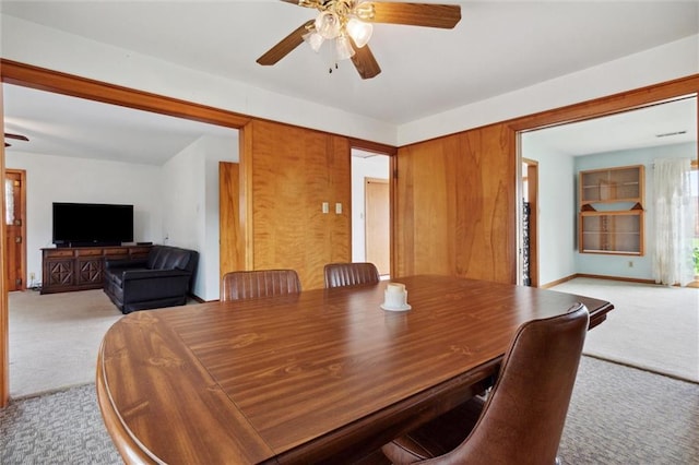
M643 254L643 165L580 171L579 251Z

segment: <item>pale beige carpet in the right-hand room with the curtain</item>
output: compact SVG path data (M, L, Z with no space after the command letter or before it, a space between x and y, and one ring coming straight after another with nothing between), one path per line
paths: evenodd
M699 382L699 289L574 278L552 290L611 301L583 353Z

